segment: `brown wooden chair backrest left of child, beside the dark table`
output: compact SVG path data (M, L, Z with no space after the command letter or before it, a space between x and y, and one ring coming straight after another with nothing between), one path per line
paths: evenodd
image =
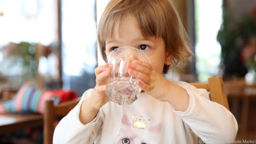
M54 105L52 100L45 102L44 111L44 144L52 144L53 132L54 132L54 121L57 117L66 116L70 110L72 110L79 102L79 98L70 100L68 102Z

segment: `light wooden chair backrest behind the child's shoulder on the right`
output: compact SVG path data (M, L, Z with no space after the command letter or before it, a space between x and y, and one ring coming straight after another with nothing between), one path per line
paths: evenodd
M229 103L226 97L222 76L208 78L208 83L190 83L196 88L204 88L210 92L210 99L219 103L229 110Z

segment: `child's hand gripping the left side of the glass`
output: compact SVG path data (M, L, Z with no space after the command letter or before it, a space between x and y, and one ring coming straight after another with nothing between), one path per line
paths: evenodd
M91 106L97 111L109 101L105 94L107 88L106 79L110 74L108 66L109 64L106 63L106 65L98 66L95 69L96 86L91 94Z

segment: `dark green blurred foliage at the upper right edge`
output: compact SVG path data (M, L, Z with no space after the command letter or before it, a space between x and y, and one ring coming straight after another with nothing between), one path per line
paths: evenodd
M256 37L256 9L244 15L243 19L235 24L232 21L230 11L227 7L223 7L223 23L219 29L217 40L222 46L221 56L224 65L239 51L241 43L246 37Z

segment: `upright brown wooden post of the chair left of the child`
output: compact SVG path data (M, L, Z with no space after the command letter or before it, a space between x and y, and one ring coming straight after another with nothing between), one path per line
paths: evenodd
M44 113L44 144L52 144L53 124L54 124L54 105L52 100L45 102Z

